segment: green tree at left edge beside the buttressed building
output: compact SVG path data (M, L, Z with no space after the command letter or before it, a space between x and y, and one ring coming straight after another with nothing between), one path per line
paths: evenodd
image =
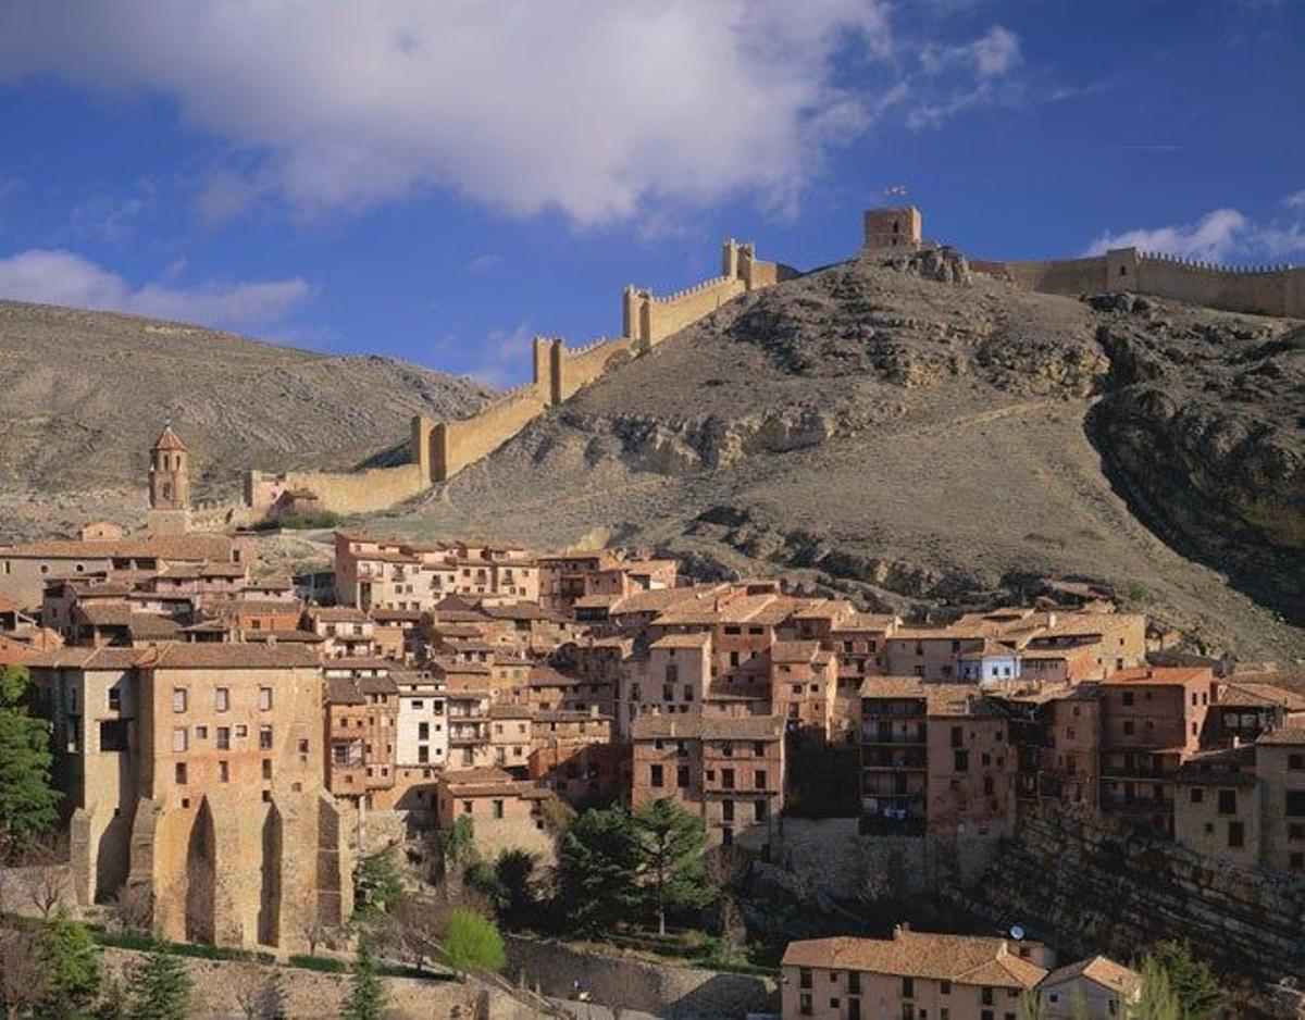
M22 848L56 820L59 793L50 785L50 727L27 711L27 670L0 670L0 844Z

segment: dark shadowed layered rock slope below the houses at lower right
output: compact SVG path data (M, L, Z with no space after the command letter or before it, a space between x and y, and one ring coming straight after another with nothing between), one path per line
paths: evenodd
M1274 989L1283 978L1305 983L1305 882L1092 818L1030 815L974 892L957 896L1004 927L1023 925L1065 959L1130 960L1156 940L1185 939L1267 1015L1280 1015Z

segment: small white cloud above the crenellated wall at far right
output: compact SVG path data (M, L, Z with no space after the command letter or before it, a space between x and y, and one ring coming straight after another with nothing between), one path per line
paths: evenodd
M1255 222L1236 209L1215 209L1193 223L1103 232L1084 254L1111 248L1195 258L1203 262L1276 260L1305 252L1305 192L1287 196L1284 214Z

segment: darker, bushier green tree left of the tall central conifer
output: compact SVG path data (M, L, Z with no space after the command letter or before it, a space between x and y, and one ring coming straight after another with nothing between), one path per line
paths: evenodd
M638 907L638 836L620 807L585 811L562 833L557 852L561 905L572 927L592 934Z

